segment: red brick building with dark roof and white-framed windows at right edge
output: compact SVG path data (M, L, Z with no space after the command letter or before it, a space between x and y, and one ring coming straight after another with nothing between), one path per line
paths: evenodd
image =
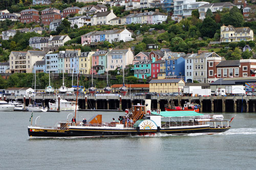
M255 77L256 60L227 60L217 66L217 78Z

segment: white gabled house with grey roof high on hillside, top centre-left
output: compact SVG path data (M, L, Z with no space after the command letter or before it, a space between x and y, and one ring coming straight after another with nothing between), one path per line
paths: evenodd
M97 12L93 15L91 21L92 26L95 25L110 25L110 20L115 18L116 15L114 14L113 10L107 12Z

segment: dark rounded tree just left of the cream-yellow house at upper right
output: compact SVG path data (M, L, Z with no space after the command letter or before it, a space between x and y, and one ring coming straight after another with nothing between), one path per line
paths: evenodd
M213 38L217 30L217 23L214 19L207 17L204 19L200 32L203 37Z

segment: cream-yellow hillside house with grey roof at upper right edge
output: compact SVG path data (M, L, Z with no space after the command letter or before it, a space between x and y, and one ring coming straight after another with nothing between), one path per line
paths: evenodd
M253 41L253 31L249 27L221 27L221 42Z

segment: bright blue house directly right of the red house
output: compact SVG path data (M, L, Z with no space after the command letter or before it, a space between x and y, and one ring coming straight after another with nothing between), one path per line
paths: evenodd
M166 69L165 74L166 78L185 78L185 58L186 55L182 57L171 57L165 61Z

